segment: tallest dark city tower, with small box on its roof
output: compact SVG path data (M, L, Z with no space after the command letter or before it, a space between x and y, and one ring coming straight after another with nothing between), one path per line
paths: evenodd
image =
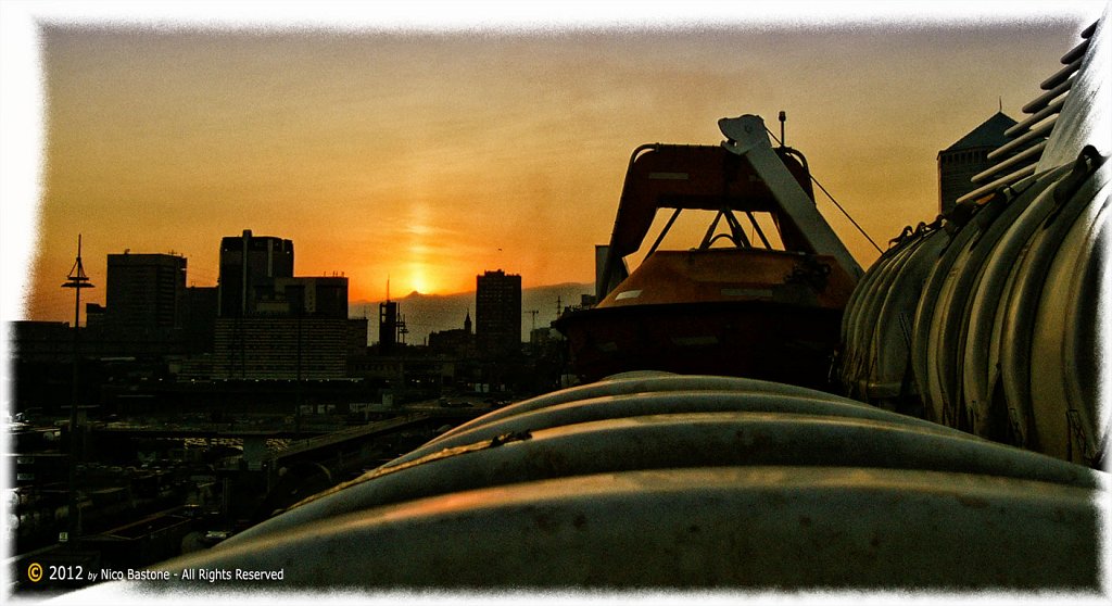
M255 236L250 229L242 236L225 237L220 240L220 317L252 314L260 292L272 291L276 278L292 277L292 240Z

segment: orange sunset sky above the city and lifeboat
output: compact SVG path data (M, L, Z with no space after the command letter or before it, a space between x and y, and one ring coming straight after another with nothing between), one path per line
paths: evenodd
M440 20L421 12L438 3L302 4L317 12L18 16L38 26L4 32L32 59L26 82L3 72L6 103L20 87L31 99L3 117L7 139L30 131L22 150L4 141L3 180L26 186L3 183L6 320L72 319L59 286L78 234L92 302L125 249L181 254L190 285L215 286L220 238L244 229L292 239L296 275L342 272L353 302L385 298L388 277L395 296L470 290L498 268L526 287L592 281L635 147L716 145L718 118L742 113L777 130L778 110L787 143L883 244L936 213L937 152L997 103L1021 119L1104 6L499 3ZM820 209L867 267L875 249Z

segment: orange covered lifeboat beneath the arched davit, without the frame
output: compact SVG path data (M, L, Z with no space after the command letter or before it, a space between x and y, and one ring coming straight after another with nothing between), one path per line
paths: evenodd
M827 389L852 286L823 256L658 251L597 307L554 326L587 381L664 370Z

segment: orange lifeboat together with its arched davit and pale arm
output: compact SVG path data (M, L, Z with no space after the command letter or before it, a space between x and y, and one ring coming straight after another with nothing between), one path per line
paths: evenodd
M826 388L862 270L815 208L803 155L773 148L758 116L718 123L721 146L634 151L599 249L599 302L555 322L582 379L663 370ZM661 209L672 217L629 274ZM658 250L687 210L715 212L702 242Z

